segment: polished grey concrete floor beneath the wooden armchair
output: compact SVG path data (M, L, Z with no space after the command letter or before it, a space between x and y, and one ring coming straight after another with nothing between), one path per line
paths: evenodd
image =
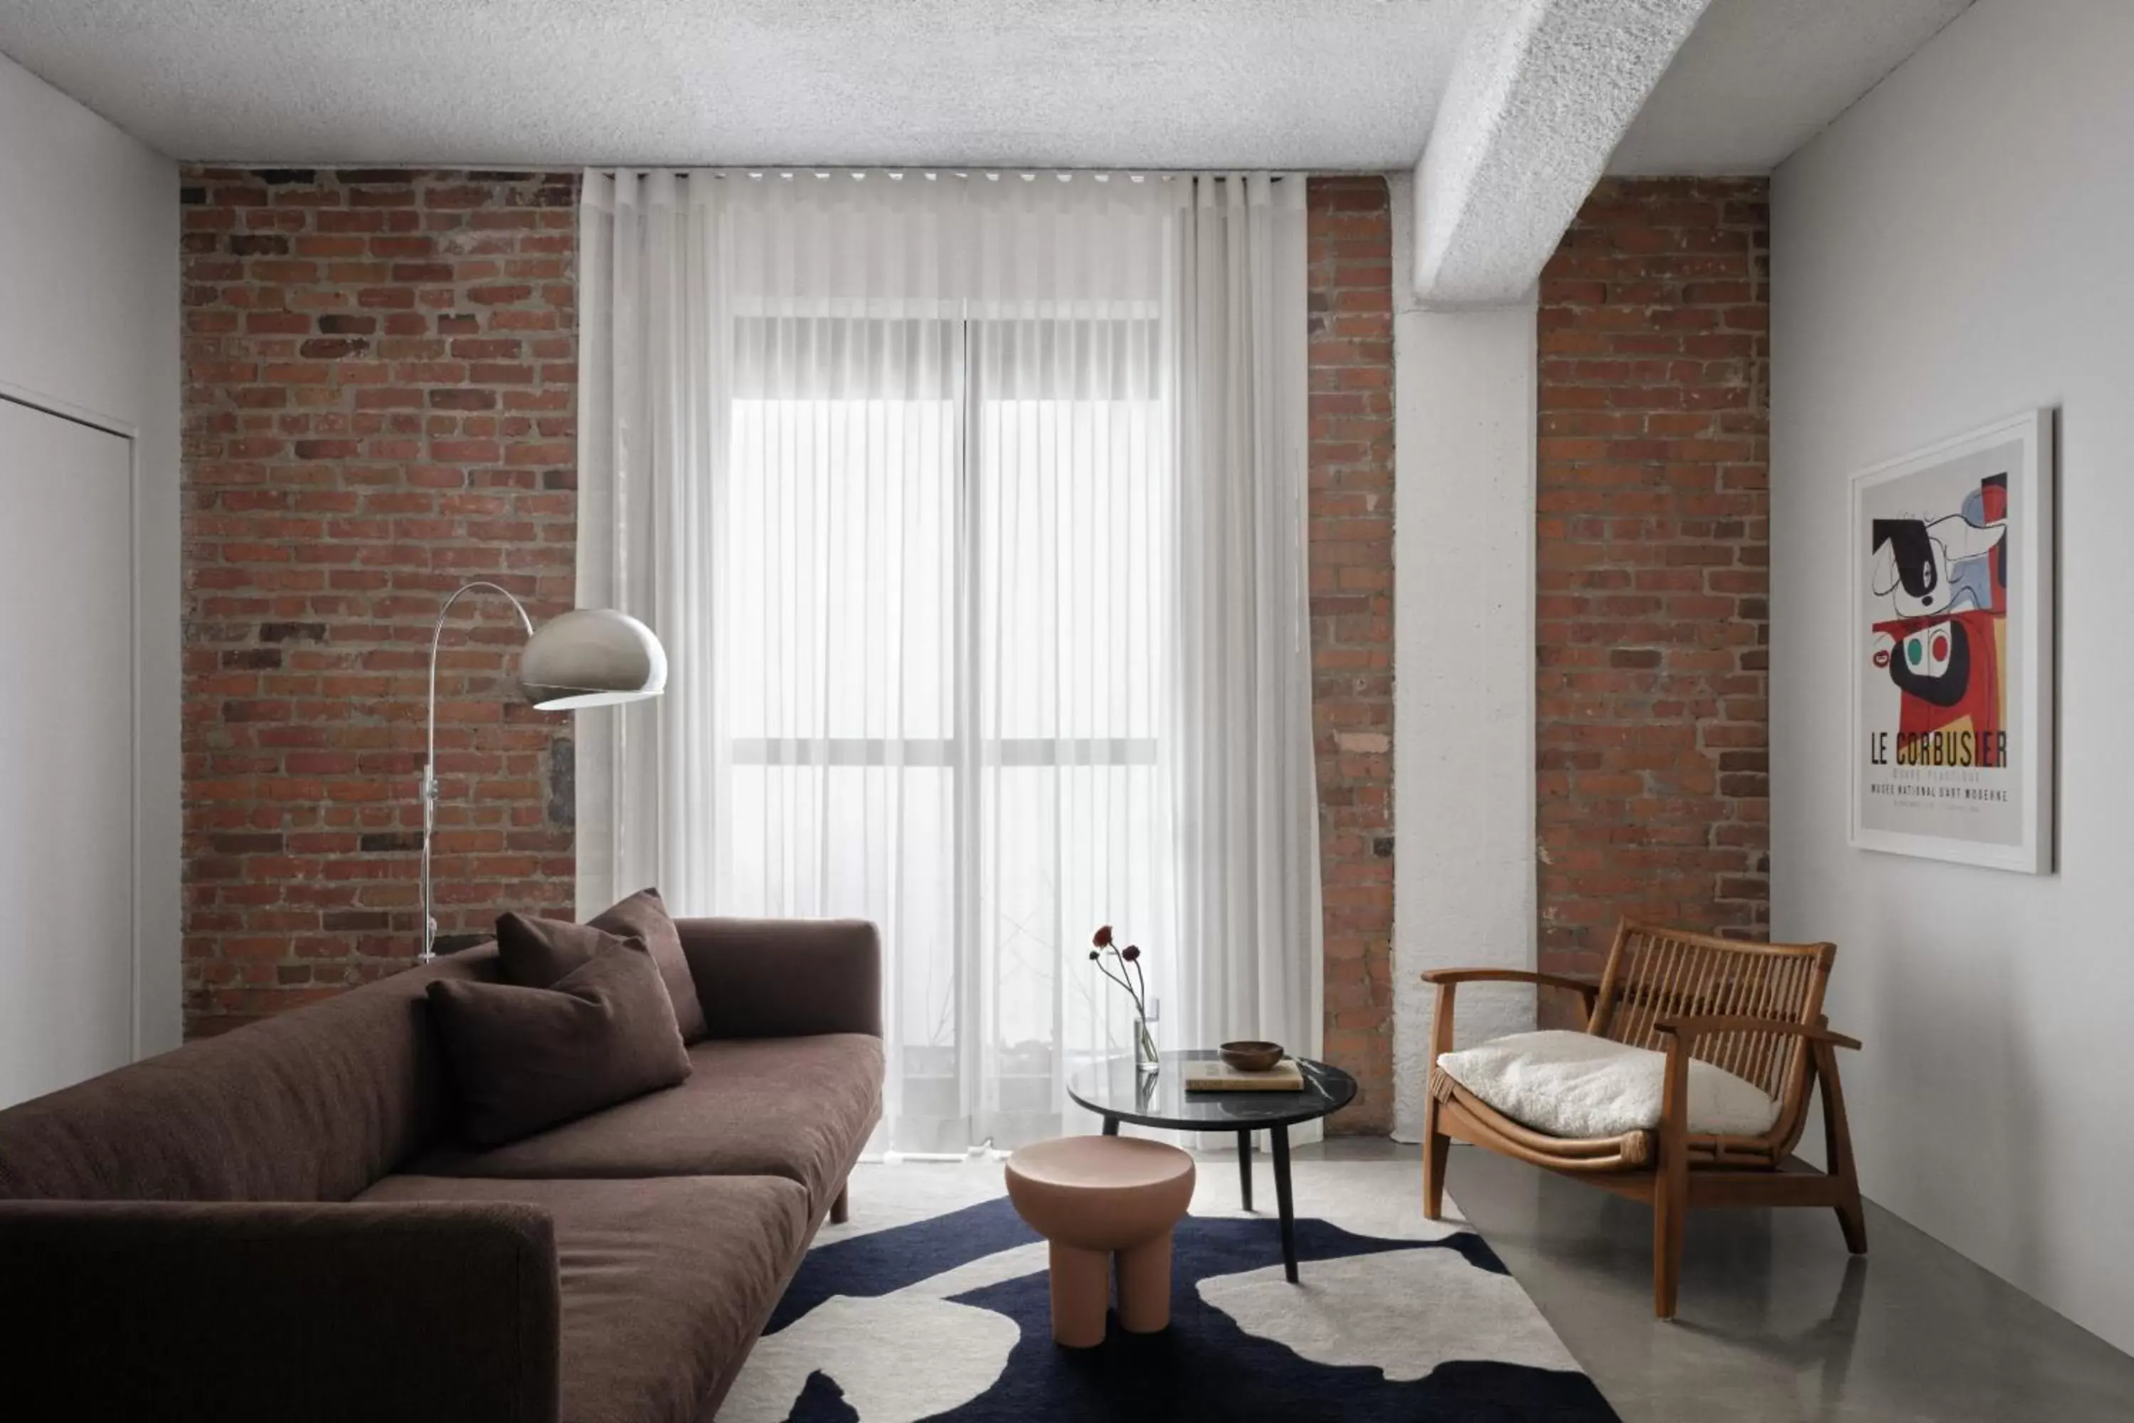
M1297 1156L1415 1158L1421 1188L1413 1146ZM1466 1146L1447 1190L1624 1423L2134 1419L2134 1357L1874 1203L1861 1259L1827 1210L1694 1212L1660 1323L1647 1210Z

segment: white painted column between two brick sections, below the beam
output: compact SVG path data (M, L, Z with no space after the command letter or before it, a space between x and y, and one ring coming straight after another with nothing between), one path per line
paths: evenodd
M1534 966L1534 303L1426 311L1394 198L1394 1135L1419 1141L1423 969ZM1472 984L1462 1045L1534 1026Z

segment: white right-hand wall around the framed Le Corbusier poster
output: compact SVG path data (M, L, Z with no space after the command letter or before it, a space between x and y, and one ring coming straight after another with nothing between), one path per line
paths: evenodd
M1773 190L1773 932L1867 1195L2134 1348L2134 6L1978 0ZM2059 416L2059 873L1846 847L1848 476ZM1406 663L1402 663L1406 666Z

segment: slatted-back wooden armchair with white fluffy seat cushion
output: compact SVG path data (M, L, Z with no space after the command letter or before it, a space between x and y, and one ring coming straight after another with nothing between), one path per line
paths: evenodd
M1652 1201L1652 1312L1675 1316L1682 1220L1697 1205L1829 1205L1846 1248L1867 1252L1867 1220L1852 1169L1852 1135L1837 1086L1837 1048L1822 990L1833 943L1737 943L1624 920L1598 984L1517 969L1432 969L1430 1099L1423 1114L1423 1214L1445 1203L1451 1141L1470 1141L1637 1201ZM1453 1045L1460 984L1536 984L1586 1001L1586 1030L1667 1054L1660 1126L1622 1137L1551 1137L1496 1112L1438 1069ZM1778 1101L1761 1137L1688 1133L1690 1058L1722 1067ZM1807 1124L1807 1092L1822 1082L1829 1171L1790 1156Z

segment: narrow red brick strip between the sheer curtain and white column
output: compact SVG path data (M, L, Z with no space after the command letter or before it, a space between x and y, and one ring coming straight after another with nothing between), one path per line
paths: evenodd
M1381 177L1308 188L1310 578L1329 1131L1394 1124L1394 220Z

